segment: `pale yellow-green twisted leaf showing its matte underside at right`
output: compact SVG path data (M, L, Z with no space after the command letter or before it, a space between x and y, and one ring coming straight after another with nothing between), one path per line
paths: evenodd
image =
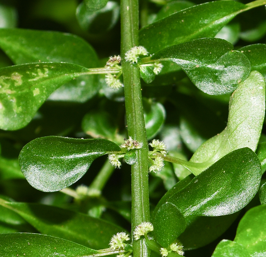
M265 115L265 80L252 71L231 95L227 127L203 143L190 159L202 167L191 170L194 175L209 167L229 152L249 147L256 150Z

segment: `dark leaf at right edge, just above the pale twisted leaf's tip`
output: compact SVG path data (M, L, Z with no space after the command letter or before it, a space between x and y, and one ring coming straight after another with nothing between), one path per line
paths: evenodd
M249 59L252 71L259 71L266 79L266 44L254 44L239 49Z

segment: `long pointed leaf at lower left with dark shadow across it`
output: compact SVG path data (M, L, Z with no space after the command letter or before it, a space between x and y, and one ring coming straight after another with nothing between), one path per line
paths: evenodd
M103 249L113 234L123 229L107 221L58 207L4 202L0 204L19 214L40 233L63 238L90 248Z

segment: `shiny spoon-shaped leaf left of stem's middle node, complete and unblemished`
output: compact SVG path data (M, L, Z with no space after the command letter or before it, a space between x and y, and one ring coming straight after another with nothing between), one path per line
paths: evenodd
M47 136L27 143L19 163L34 188L53 192L78 181L94 159L120 147L106 139L78 139Z

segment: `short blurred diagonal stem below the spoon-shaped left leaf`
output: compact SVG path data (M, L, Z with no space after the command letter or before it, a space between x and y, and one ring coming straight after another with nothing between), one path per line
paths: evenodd
M103 187L105 186L114 170L115 168L109 163L108 160L106 160L100 172L90 184L90 188L102 191Z

